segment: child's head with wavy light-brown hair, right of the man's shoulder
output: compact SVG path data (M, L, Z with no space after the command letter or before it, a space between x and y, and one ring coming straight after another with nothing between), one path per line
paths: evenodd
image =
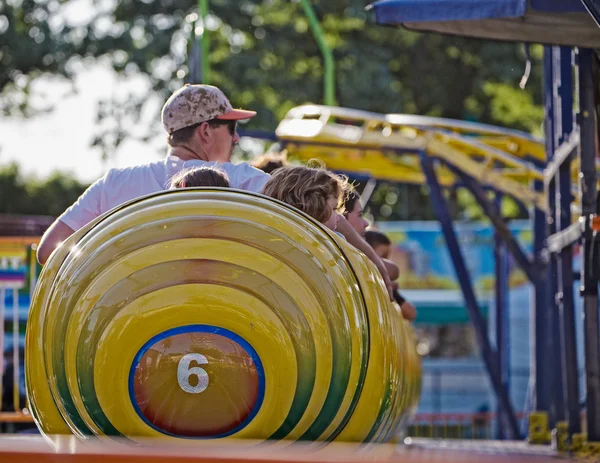
M300 209L331 230L337 226L348 181L325 169L293 166L277 169L263 187L263 194Z

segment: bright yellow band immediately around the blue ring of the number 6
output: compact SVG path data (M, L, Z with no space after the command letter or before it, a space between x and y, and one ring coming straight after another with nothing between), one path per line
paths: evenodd
M265 366L268 400L256 418L232 437L256 438L274 433L288 415L296 389L296 355L285 327L261 301L242 291L216 285L171 286L142 296L119 312L98 344L94 385L102 409L125 436L163 437L139 419L128 393L129 369L142 345L164 330L193 325L198 319L229 329L246 339ZM135 337L120 339L122 333ZM175 394L162 400L188 396L190 406L201 399ZM185 399L184 399L185 400Z

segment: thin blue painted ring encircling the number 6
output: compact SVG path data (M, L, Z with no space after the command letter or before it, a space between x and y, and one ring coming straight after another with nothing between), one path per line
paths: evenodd
M173 434L173 433L167 432L164 429L161 429L161 428L155 426L153 423L151 423L148 420L148 418L146 418L146 416L143 414L137 401L135 400L135 391L134 391L135 369L137 368L138 364L142 360L142 357L144 356L146 351L151 346L153 346L154 344L156 344L159 341L162 341L165 338L168 338L170 336L175 336L177 334L185 334L185 333L218 334L225 338L231 339L232 341L238 343L248 353L250 358L252 358L254 365L256 366L256 372L258 374L258 398L256 399L256 403L254 404L254 407L252 407L250 414L246 417L246 419L244 421L242 421L240 424L238 424L235 428L233 428L227 432L224 432L222 434L217 434L217 435L208 436L208 437L192 437L192 436L182 436L179 434ZM244 338L242 338L238 334L234 333L233 331L229 331L228 329L220 328L218 326L187 325L187 326L180 326L178 328L172 328L170 330L163 331L162 333L159 333L156 336L152 337L141 347L141 349L135 355L135 357L133 359L133 364L131 365L131 369L129 370L129 400L133 404L133 408L135 409L138 416L142 420L144 420L144 422L148 426L150 426L152 429L155 429L156 431L158 431L162 434L166 434L168 436L173 436L173 437L180 437L182 439L220 439L222 437L227 437L232 434L235 434L236 432L245 428L248 425L248 423L250 423L254 419L254 417L256 416L256 414L260 410L260 407L263 404L264 398L265 398L265 371L263 369L262 362L260 361L260 357L254 350L254 348L250 345L250 343L248 341L246 341Z

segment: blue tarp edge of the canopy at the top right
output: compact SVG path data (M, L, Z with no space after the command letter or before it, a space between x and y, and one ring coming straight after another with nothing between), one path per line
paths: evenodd
M379 24L462 21L523 16L527 0L379 0L373 3ZM531 8L549 13L579 13L580 0L531 0Z

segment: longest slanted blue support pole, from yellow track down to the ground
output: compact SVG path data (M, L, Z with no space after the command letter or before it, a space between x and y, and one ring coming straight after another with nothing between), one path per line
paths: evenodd
M452 218L450 217L448 206L444 200L442 188L435 174L433 160L427 156L427 153L425 152L421 152L421 166L423 168L425 178L427 179L427 184L429 185L433 210L442 227L442 232L444 233L444 238L446 239L446 244L448 246L448 251L452 258L456 276L465 299L465 305L469 312L471 323L473 323L473 327L475 328L475 335L477 337L479 348L481 349L481 356L483 357L484 365L490 376L492 387L494 388L494 392L496 393L498 403L500 404L502 410L502 416L504 418L503 422L506 427L507 436L510 439L519 439L520 436L517 419L515 417L508 392L502 385L502 380L498 374L498 354L494 351L490 344L485 320L481 315L479 305L477 304L477 299L475 297L475 292L471 286L469 271L467 270L458 239L456 238L456 233L454 232L454 227L452 226Z

